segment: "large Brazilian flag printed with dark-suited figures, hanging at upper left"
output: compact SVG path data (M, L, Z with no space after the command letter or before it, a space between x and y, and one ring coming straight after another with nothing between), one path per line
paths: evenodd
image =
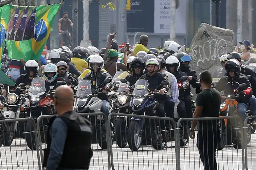
M61 4L29 7L5 6L8 6L10 10L8 13L10 19L8 18L7 22L10 21L8 31L12 35L11 38L6 35L5 39L9 58L25 61L39 60Z

